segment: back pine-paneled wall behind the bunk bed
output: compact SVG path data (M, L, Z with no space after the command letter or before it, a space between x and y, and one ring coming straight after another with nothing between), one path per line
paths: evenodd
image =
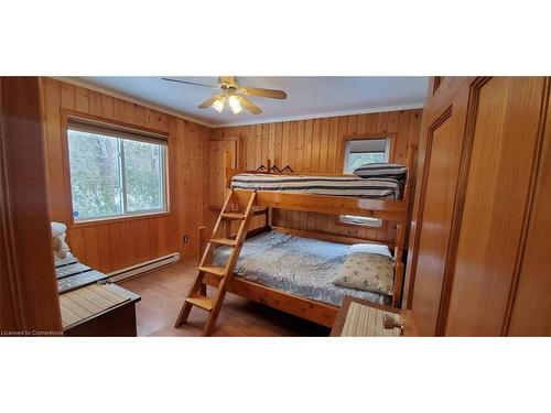
M345 141L350 138L391 137L390 162L404 163L408 146L419 143L421 115L422 109L414 109L217 128L212 138L240 138L241 166L248 170L269 159L272 165L290 165L298 173L342 173ZM216 215L207 214L210 225ZM274 224L383 242L393 242L396 237L395 226L387 222L380 229L342 225L336 217L320 214L281 210L274 214Z

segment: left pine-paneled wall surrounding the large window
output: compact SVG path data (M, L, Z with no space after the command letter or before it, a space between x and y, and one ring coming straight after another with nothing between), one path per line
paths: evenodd
M78 259L110 272L147 260L198 250L203 222L207 144L212 130L147 107L52 78L42 78L51 219L65 222L68 244ZM71 225L71 188L64 110L143 127L169 135L170 213L165 215ZM188 242L183 242L183 236Z

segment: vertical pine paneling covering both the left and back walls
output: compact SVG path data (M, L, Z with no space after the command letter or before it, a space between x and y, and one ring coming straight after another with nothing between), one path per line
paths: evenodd
M270 159L296 172L342 173L345 141L391 137L391 162L404 162L409 144L417 145L421 109L209 129L147 107L53 78L42 78L47 193L51 219L68 225L68 243L80 261L110 272L171 252L194 257L197 228L212 225L208 208L208 140L241 139L241 166L256 169ZM163 216L71 225L71 188L66 159L64 111L94 116L169 134L171 211ZM258 218L259 222L262 218ZM341 225L334 216L278 211L274 224L321 232L393 242L395 226ZM188 242L183 242L183 236Z

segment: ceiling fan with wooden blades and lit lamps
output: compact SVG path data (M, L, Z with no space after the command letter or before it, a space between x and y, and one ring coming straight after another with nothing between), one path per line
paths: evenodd
M258 115L261 112L260 108L251 102L246 96L259 96L262 98L272 98L272 99L285 99L287 94L283 90L274 90L274 89L260 89L255 87L242 87L239 85L237 79L234 76L220 76L218 77L218 86L212 85L203 85L194 81L171 79L168 77L163 77L163 80L175 81L185 85L193 86L202 86L208 87L212 89L220 89L222 93L216 94L215 96L208 98L198 107L201 109L206 109L209 107L215 108L217 111L222 112L224 109L224 104L227 101L234 115L238 115L242 111L242 108L247 109L249 112L253 115Z

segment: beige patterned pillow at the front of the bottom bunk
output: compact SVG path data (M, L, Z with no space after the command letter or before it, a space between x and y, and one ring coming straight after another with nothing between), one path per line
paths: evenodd
M392 258L369 252L353 252L341 265L335 285L392 295L395 262Z

